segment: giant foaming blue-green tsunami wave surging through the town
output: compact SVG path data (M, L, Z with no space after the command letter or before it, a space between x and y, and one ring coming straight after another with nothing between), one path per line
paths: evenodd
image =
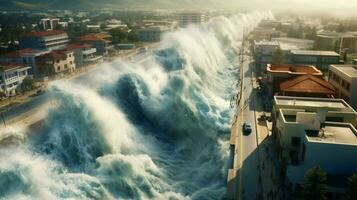
M43 127L2 133L22 145L0 148L0 199L222 199L236 52L267 17L216 17L138 62L51 84Z

